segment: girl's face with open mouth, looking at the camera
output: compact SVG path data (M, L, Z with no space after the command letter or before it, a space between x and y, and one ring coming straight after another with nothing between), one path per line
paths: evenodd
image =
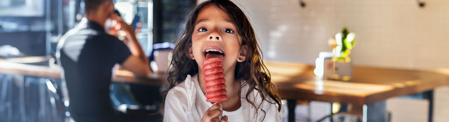
M206 50L216 49L224 54L225 73L233 70L236 61L244 61L246 55L246 46L242 46L242 39L236 30L229 16L215 4L205 6L198 13L195 22L192 47L189 50L190 58L194 59L201 69Z

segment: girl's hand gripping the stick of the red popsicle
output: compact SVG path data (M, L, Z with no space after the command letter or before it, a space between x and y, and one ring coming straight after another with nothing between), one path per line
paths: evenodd
M223 109L221 104L214 104L202 115L201 122L219 122L220 118L218 116L222 114ZM228 122L228 116L223 116L220 122Z

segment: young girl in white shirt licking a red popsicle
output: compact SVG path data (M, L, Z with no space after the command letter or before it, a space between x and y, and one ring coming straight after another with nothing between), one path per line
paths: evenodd
M218 104L205 97L202 61L210 49L223 55L228 99ZM254 30L231 1L208 0L189 13L171 65L164 122L280 121L281 99L262 62Z

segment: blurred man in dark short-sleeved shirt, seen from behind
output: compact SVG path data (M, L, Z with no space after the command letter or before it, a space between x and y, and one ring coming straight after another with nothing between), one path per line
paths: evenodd
M85 18L69 30L57 45L70 98L69 112L77 122L123 121L110 100L112 67L120 64L137 76L151 73L148 59L132 26L117 17L128 44L108 35L106 20L114 13L112 0L84 0ZM128 45L128 46L127 46Z

